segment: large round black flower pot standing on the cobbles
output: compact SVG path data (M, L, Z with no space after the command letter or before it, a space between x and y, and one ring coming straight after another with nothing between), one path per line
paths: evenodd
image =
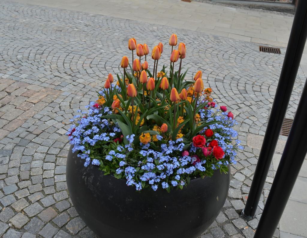
M191 179L182 190L137 192L126 180L103 175L70 148L66 176L69 194L84 222L102 238L193 238L216 219L227 197L230 173Z

